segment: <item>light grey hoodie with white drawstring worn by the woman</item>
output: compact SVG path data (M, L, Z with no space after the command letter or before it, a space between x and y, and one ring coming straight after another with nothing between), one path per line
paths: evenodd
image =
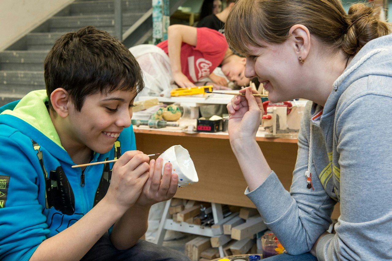
M324 107L309 102L290 192L272 171L245 194L292 255L309 252L340 202L318 260L392 259L392 35L366 44ZM309 151L311 152L309 154ZM305 172L312 173L313 189Z

